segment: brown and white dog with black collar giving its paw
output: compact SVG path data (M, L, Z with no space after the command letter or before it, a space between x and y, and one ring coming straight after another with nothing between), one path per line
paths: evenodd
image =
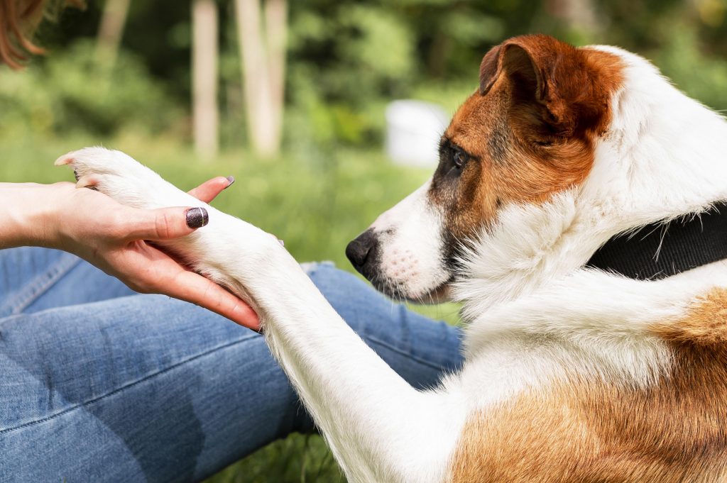
M429 391L257 227L206 206L208 227L166 248L260 314L349 482L727 481L726 262L589 264L619 234L659 228L661 245L720 219L725 153L727 122L635 54L542 35L491 49L432 178L347 248L390 296L462 302L465 364ZM130 206L199 203L118 151L57 163Z

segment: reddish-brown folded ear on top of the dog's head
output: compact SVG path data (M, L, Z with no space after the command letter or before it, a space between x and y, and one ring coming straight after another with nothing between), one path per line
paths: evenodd
M526 105L553 134L570 135L587 121L593 80L574 46L544 35L511 38L491 49L480 65L480 94L504 78L513 105Z

